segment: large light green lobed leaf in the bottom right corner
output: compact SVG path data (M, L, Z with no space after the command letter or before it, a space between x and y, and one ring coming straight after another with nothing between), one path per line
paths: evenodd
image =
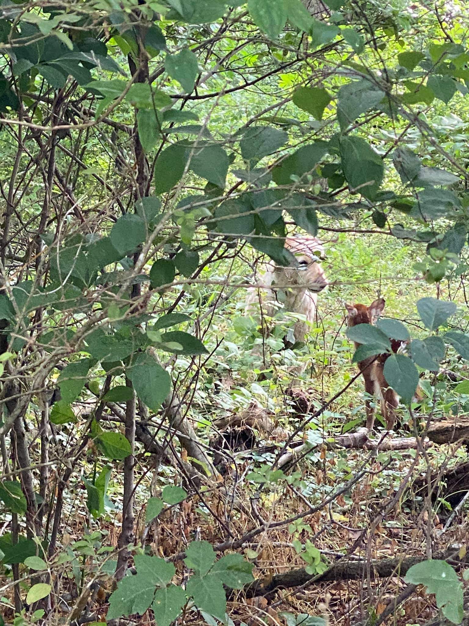
M435 593L436 605L453 623L463 619L463 587L455 570L446 563L430 559L416 563L405 575L405 582L425 585L427 593Z

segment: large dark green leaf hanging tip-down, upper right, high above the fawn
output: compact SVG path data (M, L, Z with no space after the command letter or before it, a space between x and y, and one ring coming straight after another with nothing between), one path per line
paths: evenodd
M340 139L340 156L351 189L372 200L383 180L384 166L380 156L364 139L356 136Z

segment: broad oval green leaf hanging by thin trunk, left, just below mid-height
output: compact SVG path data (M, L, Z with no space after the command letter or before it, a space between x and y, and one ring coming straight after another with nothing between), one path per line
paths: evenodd
M158 411L171 391L171 377L149 354L138 354L126 368L137 396L152 411Z

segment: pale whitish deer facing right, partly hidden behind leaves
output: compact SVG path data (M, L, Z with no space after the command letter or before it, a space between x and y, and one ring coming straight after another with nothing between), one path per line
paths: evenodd
M319 239L309 235L286 237L285 248L295 256L298 266L282 267L273 261L266 264L265 274L260 277L260 282L266 286L263 289L248 289L245 315L255 315L256 304L262 306L266 302L263 310L268 317L273 317L277 308L273 300L277 299L278 291L283 289L284 310L305 316L305 321L296 321L293 328L295 342L305 342L308 328L316 317L318 293L328 285L320 263L325 249ZM281 286L276 288L275 285Z

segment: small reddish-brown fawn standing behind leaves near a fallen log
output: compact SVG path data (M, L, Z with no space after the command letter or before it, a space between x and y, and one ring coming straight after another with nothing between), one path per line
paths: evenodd
M378 298L371 302L367 307L365 304L346 304L345 308L348 312L348 327L357 324L374 324L376 318L380 316L385 308L385 300ZM390 339L391 349L397 352L405 341L397 341ZM360 345L355 343L355 349ZM394 389L388 385L383 372L385 361L390 356L389 352L378 354L378 356L370 356L358 363L358 369L363 374L365 380L365 391L370 396L375 396L380 400L381 414L386 421L386 428L392 430L396 420L396 409L399 405L399 396ZM372 406L370 398L366 400L366 428L371 430L375 423L375 408Z

